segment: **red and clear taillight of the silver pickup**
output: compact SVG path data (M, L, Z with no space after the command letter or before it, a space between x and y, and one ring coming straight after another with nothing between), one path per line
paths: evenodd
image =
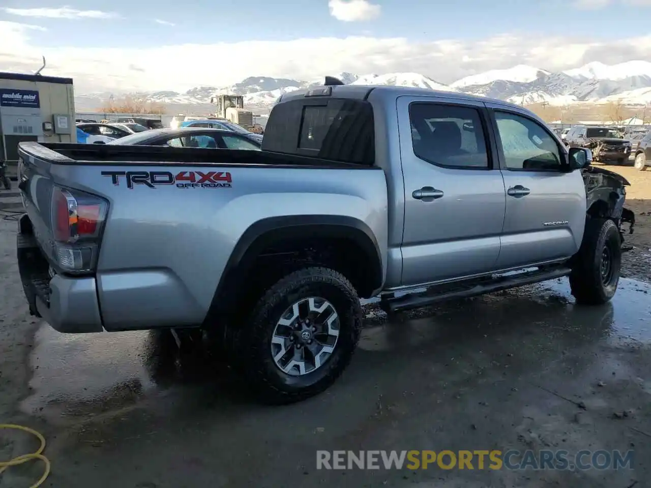
M52 193L53 254L70 273L94 271L108 204L96 195L54 187Z

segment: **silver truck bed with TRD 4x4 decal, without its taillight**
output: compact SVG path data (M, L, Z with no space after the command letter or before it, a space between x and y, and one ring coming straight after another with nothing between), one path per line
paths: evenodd
M41 308L62 332L201 325L227 264L242 257L238 250L281 224L354 222L377 240L378 255L386 255L387 183L378 167L271 152L111 144L31 142L20 144L19 154L27 211L21 254L42 254L31 259L42 267L23 273L25 286L37 295L53 268L49 302L43 299ZM53 211L53 195L60 189L107 208L93 241L96 265L84 275L70 276L57 258L53 234L60 221L53 215L60 213ZM92 316L80 315L82 308Z

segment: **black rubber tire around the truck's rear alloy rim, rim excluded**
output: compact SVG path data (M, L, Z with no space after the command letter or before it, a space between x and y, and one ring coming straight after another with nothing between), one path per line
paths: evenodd
M339 316L339 338L332 355L318 369L300 376L281 371L271 356L271 336L284 310L305 297L323 297ZM238 327L233 342L238 370L263 403L305 400L332 385L350 363L361 329L361 305L352 284L326 267L306 267L273 284Z

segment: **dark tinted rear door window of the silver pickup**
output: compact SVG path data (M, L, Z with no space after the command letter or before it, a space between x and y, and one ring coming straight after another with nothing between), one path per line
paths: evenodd
M488 154L479 112L471 107L409 105L413 153L451 168L487 169Z

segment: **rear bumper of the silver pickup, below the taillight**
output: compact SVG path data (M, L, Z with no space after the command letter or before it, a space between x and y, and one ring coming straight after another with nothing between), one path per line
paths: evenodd
M29 312L59 332L102 332L94 277L49 275L49 263L38 247L27 215L18 221L18 269Z

